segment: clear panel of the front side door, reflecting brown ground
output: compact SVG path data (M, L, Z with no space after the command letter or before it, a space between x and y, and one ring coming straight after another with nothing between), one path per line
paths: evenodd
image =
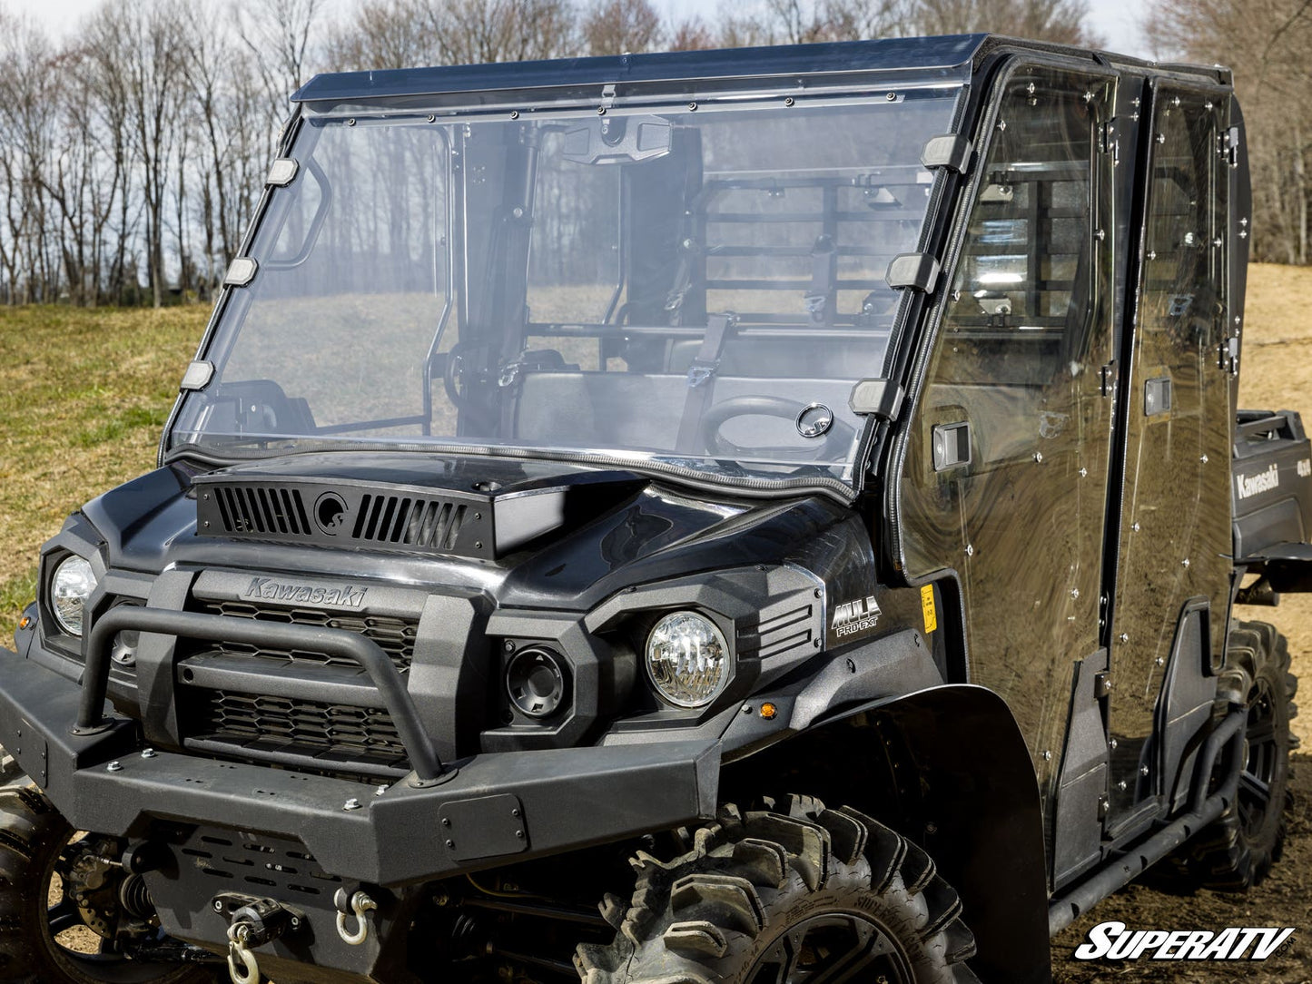
M911 577L959 573L972 680L1012 706L1051 794L1073 663L1098 644L1111 87L1048 68L1004 85L896 518Z

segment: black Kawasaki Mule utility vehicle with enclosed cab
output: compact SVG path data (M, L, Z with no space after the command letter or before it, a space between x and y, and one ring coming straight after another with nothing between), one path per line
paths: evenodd
M1236 407L1228 71L295 100L157 470L0 653L5 979L1044 981L1147 867L1278 858L1295 680L1233 606L1312 585L1312 455Z

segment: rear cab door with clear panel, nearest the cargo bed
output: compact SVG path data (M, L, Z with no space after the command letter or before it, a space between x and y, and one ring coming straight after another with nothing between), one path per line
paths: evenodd
M1124 485L1110 625L1110 837L1183 800L1231 575L1229 94L1157 80L1139 299L1122 395ZM1187 774L1187 773L1186 773Z

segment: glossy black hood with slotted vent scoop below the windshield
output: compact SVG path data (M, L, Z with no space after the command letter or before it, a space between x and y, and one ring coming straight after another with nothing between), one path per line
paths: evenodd
M110 567L331 572L576 611L630 585L698 571L810 567L817 550L830 552L825 544L854 542L837 526L859 526L853 510L823 496L736 501L623 470L356 453L207 474L171 466L84 513L105 538Z

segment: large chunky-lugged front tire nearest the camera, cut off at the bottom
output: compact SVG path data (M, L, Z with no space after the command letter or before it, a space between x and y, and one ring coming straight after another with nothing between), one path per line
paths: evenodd
M630 905L602 904L615 941L575 955L585 984L977 980L962 903L924 850L849 807L766 806L724 807L672 861L640 851Z

